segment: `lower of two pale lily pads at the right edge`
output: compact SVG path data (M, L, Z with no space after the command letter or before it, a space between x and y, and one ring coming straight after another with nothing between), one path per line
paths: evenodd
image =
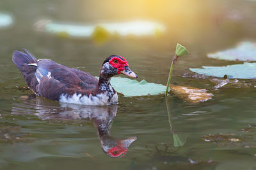
M228 66L203 66L203 68L189 68L192 72L214 77L227 75L230 79L256 79L256 63L243 63Z

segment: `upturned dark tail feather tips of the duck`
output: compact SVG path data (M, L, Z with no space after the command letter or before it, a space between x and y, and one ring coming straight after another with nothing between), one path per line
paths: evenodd
M13 52L12 61L21 70L22 65L28 65L31 63L36 63L37 59L32 56L26 49L22 49L23 52L15 50Z

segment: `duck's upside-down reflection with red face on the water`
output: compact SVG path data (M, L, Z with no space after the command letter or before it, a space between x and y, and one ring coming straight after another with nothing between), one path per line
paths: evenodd
M124 157L130 144L137 139L136 137L116 139L110 135L109 129L116 116L118 105L88 106L60 103L60 107L52 104L52 101L44 98L30 97L28 100L23 100L22 104L15 104L17 107L12 107L12 114L32 114L43 120L92 120L97 128L104 153L113 158Z

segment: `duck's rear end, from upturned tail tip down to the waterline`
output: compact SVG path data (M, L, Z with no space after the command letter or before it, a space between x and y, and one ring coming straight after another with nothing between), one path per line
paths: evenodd
M32 56L32 54L30 54L28 50L22 50L23 52L20 52L18 50L15 50L15 52L13 52L12 61L20 69L20 72L22 73L28 86L33 89L35 93L38 93L38 81L36 80L35 76L37 59ZM29 65L33 63L35 63L35 65Z

